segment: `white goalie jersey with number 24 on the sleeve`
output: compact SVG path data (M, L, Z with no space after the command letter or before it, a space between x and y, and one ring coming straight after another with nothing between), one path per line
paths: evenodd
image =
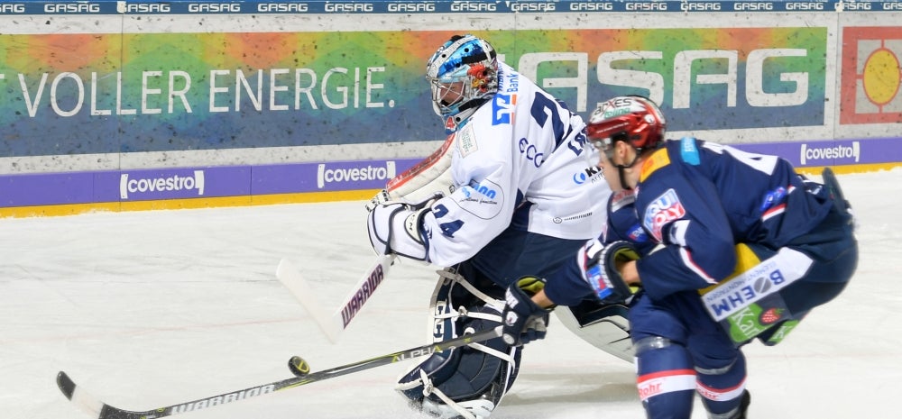
M415 168L427 179L401 175L387 190L410 202L444 194L430 205L423 229L428 261L451 266L511 223L562 239L597 236L610 189L596 161L582 118L501 63L498 93ZM428 185L405 191L410 184Z

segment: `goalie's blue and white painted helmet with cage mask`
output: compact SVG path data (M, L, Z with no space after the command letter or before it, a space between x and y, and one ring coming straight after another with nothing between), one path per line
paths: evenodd
M426 63L426 79L436 114L456 126L498 91L497 54L487 41L455 35Z

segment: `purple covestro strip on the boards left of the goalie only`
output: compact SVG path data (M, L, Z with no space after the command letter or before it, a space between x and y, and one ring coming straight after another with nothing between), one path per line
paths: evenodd
M380 189L419 159L0 177L0 207L140 202Z

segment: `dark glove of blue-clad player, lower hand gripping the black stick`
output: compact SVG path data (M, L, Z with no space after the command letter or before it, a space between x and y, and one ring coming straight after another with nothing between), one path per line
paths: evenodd
M508 287L504 295L504 331L502 339L511 346L545 339L548 330L548 314L554 307L542 308L530 298L545 288L539 278L523 277Z

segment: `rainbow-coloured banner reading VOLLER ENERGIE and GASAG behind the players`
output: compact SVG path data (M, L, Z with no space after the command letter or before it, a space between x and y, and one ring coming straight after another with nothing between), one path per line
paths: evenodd
M423 63L453 33L0 33L0 156L444 139ZM640 94L671 131L831 138L825 26L474 33L577 113Z

